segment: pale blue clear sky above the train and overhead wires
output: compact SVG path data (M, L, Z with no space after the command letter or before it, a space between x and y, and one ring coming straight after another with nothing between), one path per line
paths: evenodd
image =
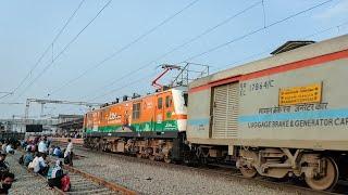
M23 117L26 99L105 103L153 92L150 83L161 64L204 64L214 73L269 56L288 40L320 41L347 34L348 0L332 0L272 25L322 2L3 0L0 92L13 93L0 93L0 118ZM87 109L47 104L44 114ZM39 115L40 106L30 104L29 117Z

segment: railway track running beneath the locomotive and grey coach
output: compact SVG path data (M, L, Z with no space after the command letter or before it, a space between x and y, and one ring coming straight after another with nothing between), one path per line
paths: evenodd
M55 143L57 144L57 143ZM66 146L66 143L60 143L61 146ZM74 145L76 150L80 150L84 152L89 152L89 153L98 153L98 151L92 151L89 148L85 148L82 145ZM161 161L152 161L149 159L144 159L144 158L136 158L133 156L126 156L122 154L114 154L114 153L107 153L105 155L111 155L111 156L116 156L121 158L126 158L128 160L137 160L141 161L144 164L150 164L150 165L156 165L156 166L165 166L165 167L171 167L174 169L189 169L189 170L195 170L199 172L206 172L211 176L215 177L224 177L229 180L238 180L241 182L248 182L248 183L254 183L254 184L260 184L262 186L266 186L270 188L281 188L282 191L285 192L295 192L297 194L331 194L331 195L338 195L338 194L348 194L348 185L346 183L339 182L338 186L334 192L326 192L326 191L314 191L312 188L309 188L306 186L306 184L301 181L291 181L291 180L276 180L272 178L265 178L265 177L257 177L253 179L248 179L244 178L243 174L239 172L237 168L233 167L216 167L216 166L202 166L202 167L188 167L188 166L183 166L183 165L176 165L176 164L165 164Z

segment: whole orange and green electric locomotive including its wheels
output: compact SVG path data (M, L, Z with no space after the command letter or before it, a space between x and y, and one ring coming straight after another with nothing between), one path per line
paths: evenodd
M171 161L186 139L187 92L170 89L85 115L87 147Z

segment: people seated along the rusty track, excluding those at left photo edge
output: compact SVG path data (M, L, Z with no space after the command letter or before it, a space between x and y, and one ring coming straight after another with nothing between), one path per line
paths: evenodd
M25 148L26 153L21 157L20 164L35 173L47 177L50 187L69 191L70 179L63 172L63 164L60 158L64 158L64 164L73 166L73 143L70 139L64 152L59 146L51 145L47 138L22 141L21 146ZM49 166L47 160L49 155L58 158L52 166Z

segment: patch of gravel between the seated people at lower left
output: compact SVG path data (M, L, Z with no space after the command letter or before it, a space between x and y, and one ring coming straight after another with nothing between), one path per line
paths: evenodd
M50 195L58 194L54 190L50 190L47 181L38 176L28 172L18 164L21 154L16 152L14 155L8 155L7 161L10 165L10 171L14 173L16 181L13 182L9 194L28 194L28 195Z

